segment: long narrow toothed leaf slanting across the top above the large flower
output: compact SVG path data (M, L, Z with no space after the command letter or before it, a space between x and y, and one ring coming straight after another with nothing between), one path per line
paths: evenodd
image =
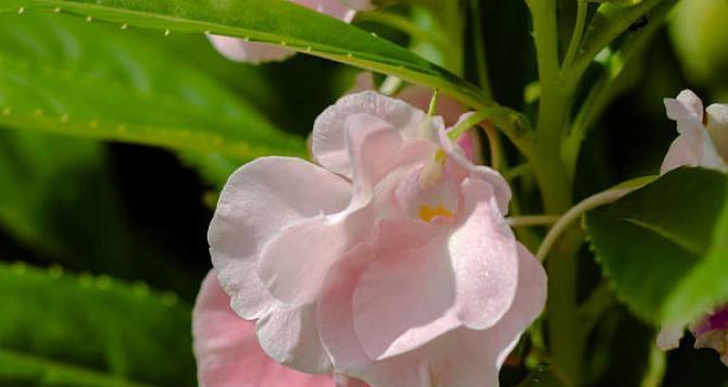
M286 0L28 0L22 5L25 13L59 10L160 34L212 33L286 46L439 88L474 108L493 105L473 85L413 52Z

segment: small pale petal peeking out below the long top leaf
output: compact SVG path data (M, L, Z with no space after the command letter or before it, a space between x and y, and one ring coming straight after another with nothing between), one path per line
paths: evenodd
M274 45L248 42L229 36L210 35L209 38L217 52L236 62L259 64L283 61L296 54L296 51Z

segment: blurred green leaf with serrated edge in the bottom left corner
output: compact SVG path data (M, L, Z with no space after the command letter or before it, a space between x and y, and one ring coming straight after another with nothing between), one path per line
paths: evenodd
M0 385L192 386L190 309L109 277L0 264Z

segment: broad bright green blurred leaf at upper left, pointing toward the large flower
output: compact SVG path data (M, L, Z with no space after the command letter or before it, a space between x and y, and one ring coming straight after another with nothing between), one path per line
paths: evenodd
M252 105L142 36L0 15L0 126L237 158L305 154Z

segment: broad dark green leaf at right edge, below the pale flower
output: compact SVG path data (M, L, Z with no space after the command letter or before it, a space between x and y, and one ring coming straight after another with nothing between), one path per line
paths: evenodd
M726 203L725 174L680 168L587 213L591 247L632 312L687 323L728 299Z

